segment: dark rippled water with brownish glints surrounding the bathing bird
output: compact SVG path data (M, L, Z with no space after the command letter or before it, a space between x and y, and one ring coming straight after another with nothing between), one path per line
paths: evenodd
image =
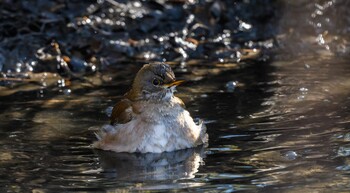
M207 148L91 149L142 62L85 81L37 73L0 87L1 192L350 191L348 3L327 12L332 2L289 5L278 46L259 59L173 62L188 80L177 95L206 121Z

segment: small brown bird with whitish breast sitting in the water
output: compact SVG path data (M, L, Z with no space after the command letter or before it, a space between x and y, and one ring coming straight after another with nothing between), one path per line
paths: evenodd
M197 123L174 95L183 83L164 62L143 65L131 89L113 107L110 124L95 133L96 149L162 153L208 143L203 120Z

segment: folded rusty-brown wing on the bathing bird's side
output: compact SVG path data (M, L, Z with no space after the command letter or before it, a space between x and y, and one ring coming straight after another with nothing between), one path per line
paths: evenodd
M132 105L129 99L122 99L114 105L111 115L111 124L123 124L132 119Z

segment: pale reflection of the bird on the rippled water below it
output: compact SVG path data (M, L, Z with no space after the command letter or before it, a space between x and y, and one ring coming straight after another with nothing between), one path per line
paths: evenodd
M193 178L202 165L204 147L164 153L115 153L96 151L104 174L128 181Z

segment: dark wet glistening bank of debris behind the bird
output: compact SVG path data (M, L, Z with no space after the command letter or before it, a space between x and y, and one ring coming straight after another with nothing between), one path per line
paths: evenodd
M89 58L114 61L108 65L127 59L232 58L230 53L235 53L237 47L226 45L271 37L265 37L267 33L259 26L270 25L276 19L276 4L227 0L6 1L0 5L4 18L0 47L6 64L0 70L54 72L57 63L63 67L64 62L53 59L57 55L50 51L53 41L61 45L61 55L71 59L68 68L80 74L101 67L98 63L91 65ZM268 31L272 35L276 32ZM16 67L19 63L20 68Z

